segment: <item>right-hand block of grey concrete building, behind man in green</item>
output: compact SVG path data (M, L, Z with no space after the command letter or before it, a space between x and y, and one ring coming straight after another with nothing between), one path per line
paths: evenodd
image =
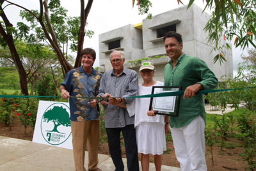
M229 75L233 73L232 64L232 50L226 50L224 54L227 57L227 63L213 63L214 56L218 52L212 52L212 45L207 44L207 36L204 27L209 20L207 13L202 13L202 9L195 4L187 10L187 6L182 6L175 10L161 13L152 18L152 20L143 20L143 48L145 50L145 57L154 55L161 55L165 53L164 42L157 39L156 28L164 26L164 24L176 23L177 33L182 34L183 52L189 56L197 56L207 63L209 68L220 78L222 75ZM220 42L227 43L227 42ZM157 63L155 63L157 64Z

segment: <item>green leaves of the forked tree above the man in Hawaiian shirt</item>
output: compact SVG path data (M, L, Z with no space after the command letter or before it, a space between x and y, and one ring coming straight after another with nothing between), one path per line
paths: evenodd
M64 48L67 47L68 41L71 41L69 47L72 52L77 51L78 39L79 39L79 29L80 29L80 17L68 17L68 10L61 6L60 0L49 1L49 22L54 30L54 34L58 41L58 45L63 48L63 53L65 52ZM21 10L20 17L25 19L28 24L24 22L19 22L17 24L17 34L15 35L19 39L26 40L28 43L46 41L47 36L45 36L42 26L40 26L36 17L39 17L38 10L29 11ZM35 17L36 16L36 17ZM45 26L48 26L45 16L43 17L43 22ZM87 23L86 23L87 25ZM34 31L31 33L30 31ZM92 38L94 32L92 30L85 30L85 35L89 38ZM67 53L67 50L66 50Z

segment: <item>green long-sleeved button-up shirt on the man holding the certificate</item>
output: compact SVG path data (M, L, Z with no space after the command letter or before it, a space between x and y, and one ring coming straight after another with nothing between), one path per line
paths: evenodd
M218 79L202 59L182 54L177 60L175 68L170 60L164 68L164 85L181 86L185 90L189 85L200 83L205 90L214 89ZM170 117L170 126L180 128L188 125L193 119L202 116L206 119L204 94L196 94L193 98L180 98L179 117Z

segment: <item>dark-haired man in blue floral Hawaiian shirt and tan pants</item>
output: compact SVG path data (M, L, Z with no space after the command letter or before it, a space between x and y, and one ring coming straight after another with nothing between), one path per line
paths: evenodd
M88 142L89 171L100 171L97 167L100 138L100 114L97 100L86 100L84 96L97 96L102 74L92 66L96 59L95 50L84 48L81 52L83 66L69 71L60 85L61 97L70 98L70 121L73 138L73 154L76 171L85 171L84 151Z

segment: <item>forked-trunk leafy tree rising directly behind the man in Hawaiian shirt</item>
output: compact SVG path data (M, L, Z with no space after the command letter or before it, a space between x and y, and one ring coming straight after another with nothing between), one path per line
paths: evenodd
M63 43L71 39L73 42L71 47L73 50L74 48L77 50L74 67L76 68L81 66L80 56L81 51L83 50L84 36L92 36L93 34L92 31L86 31L84 29L93 0L89 0L86 7L84 1L81 0L80 17L67 17L67 10L61 7L60 0L39 0L39 11L29 10L19 4L12 3L11 1L1 1L7 2L7 5L11 4L22 8L23 11L20 13L21 17L30 22L31 26L27 26L22 22L17 24L17 27L19 28L19 32L17 34L20 38L25 38L28 41L47 41L56 52L64 73L67 73L73 67L65 58L61 45L64 48ZM70 20L70 22L67 22L67 20ZM72 23L72 21L74 23ZM31 28L36 34L29 34L29 30Z

